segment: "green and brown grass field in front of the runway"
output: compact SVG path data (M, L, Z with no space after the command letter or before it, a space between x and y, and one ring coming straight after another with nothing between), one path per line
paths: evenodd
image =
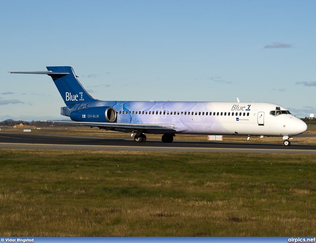
M2 236L311 236L315 155L0 149Z

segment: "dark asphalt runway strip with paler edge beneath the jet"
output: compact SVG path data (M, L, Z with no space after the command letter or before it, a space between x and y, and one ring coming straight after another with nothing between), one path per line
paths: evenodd
M136 143L133 138L2 131L0 132L0 148L316 154L316 145L297 145L295 141L288 147L282 144L176 140L168 144L156 139L147 139L146 143Z

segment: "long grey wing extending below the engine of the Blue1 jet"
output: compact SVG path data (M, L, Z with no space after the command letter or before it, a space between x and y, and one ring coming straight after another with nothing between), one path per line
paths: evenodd
M111 122L59 122L59 121L41 121L53 122L60 124L84 125L90 127L99 127L106 130L125 129L126 133L133 130L141 131L142 133L175 133L174 125L172 124L141 124L141 123L111 123Z

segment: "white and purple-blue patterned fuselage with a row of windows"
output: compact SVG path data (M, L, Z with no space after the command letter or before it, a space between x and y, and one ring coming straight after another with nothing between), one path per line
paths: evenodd
M118 124L172 124L182 134L294 136L307 129L305 122L284 107L266 102L97 101L80 105L113 107ZM62 110L63 115L70 111Z

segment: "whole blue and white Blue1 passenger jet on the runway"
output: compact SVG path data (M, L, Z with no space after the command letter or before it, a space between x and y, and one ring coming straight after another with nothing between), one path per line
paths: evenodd
M65 107L60 114L71 122L62 124L99 127L134 133L134 140L146 142L145 134L162 134L171 143L176 134L283 137L289 146L293 136L307 130L305 122L278 104L267 102L193 102L193 101L101 101L81 85L72 67L46 67L48 71L8 72L10 74L47 74L52 77Z

